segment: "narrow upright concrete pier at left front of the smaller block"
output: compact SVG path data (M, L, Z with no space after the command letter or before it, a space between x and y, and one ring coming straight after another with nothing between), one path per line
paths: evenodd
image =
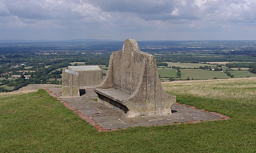
M79 95L79 73L71 70L62 70L62 96L75 97Z

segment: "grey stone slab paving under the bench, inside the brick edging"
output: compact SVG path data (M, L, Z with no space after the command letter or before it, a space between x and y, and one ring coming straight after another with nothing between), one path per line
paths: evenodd
M103 104L95 102L93 99L97 95L93 92L93 87L82 87L86 93L80 97L61 97L81 113L94 120L104 129L118 129L137 126L156 126L174 123L195 123L199 121L219 120L221 117L192 109L177 103L171 107L172 114L168 116L143 116L128 118ZM49 88L58 97L61 96L61 88Z

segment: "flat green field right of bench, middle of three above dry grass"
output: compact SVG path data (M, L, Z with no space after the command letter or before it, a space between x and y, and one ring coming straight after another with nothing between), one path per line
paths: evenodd
M200 70L200 69L180 69L181 79L190 79L202 80L202 79L213 79L216 78L230 78L224 72L220 71L209 71L209 70Z

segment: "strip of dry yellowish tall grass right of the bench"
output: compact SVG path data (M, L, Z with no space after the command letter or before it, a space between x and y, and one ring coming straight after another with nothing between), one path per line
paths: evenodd
M256 78L173 81L162 83L165 91L211 99L256 103Z

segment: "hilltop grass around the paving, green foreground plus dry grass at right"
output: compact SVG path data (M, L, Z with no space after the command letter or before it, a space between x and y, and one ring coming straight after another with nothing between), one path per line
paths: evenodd
M241 101L231 96L255 92L255 80L163 84L164 89L176 95L181 103L228 115L230 120L100 133L43 90L1 95L0 152L253 153L256 151L255 97L253 94L240 96L243 97ZM220 90L225 96L213 92L215 90ZM211 96L200 92L209 92Z

